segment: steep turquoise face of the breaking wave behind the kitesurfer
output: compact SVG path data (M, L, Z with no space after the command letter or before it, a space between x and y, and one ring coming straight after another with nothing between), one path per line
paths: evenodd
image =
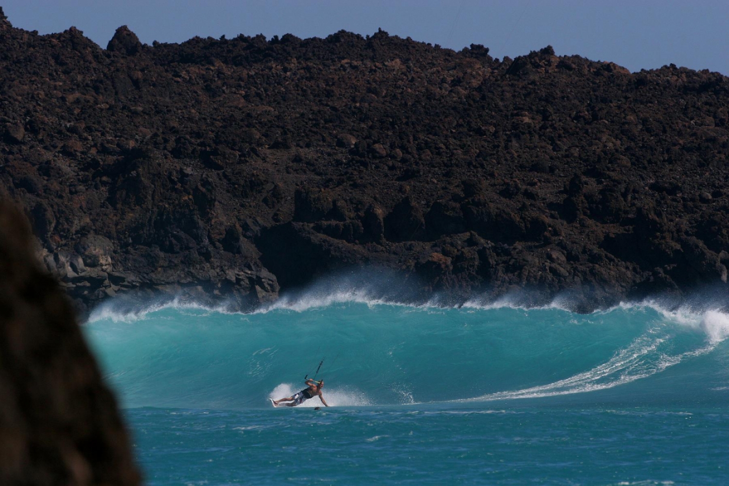
M729 315L713 310L621 305L582 315L332 294L251 314L107 307L84 329L127 408L266 407L304 388L322 358L316 377L338 406L729 398Z

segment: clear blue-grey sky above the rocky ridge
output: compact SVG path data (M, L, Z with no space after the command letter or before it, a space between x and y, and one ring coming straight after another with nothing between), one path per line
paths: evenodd
M141 42L194 36L294 34L345 29L496 58L552 45L557 55L609 60L631 71L669 63L729 75L729 0L0 0L13 26L40 34L75 26L106 47L126 25Z

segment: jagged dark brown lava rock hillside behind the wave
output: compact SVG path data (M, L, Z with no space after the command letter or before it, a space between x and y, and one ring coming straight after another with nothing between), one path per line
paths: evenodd
M139 43L0 26L0 181L79 305L394 268L457 298L725 285L729 83L380 31Z

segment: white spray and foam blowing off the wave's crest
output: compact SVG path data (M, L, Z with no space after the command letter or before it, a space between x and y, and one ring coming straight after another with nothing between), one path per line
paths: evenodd
M457 299L448 294L424 295L413 286L412 282L402 275L383 269L358 270L351 274L332 275L322 278L301 291L290 291L281 294L276 301L261 304L257 307L241 307L240 302L233 299L222 299L211 302L206 299L195 299L190 295L179 295L172 299L159 299L141 302L132 298L117 297L108 300L92 310L87 321L110 319L116 322L136 321L145 318L147 313L176 308L183 310L203 310L217 313L268 313L275 310L292 310L305 312L312 308L330 307L336 304L361 303L366 305L396 305L405 307L426 308L466 308L474 310L520 309L545 310L557 309L580 314L604 313L615 308L650 307L660 313L680 318L695 319L695 315L715 310L721 313L729 309L729 297L720 298L714 294L701 296L696 294L691 299L677 302L671 298L646 298L636 301L585 303L585 297L573 291L565 290L550 299L537 291L529 289L512 290L506 294L495 296L484 293L473 295L467 299ZM713 305L712 305L713 304ZM712 319L709 328L717 339L729 334L720 328L728 326L718 324ZM707 328L707 329L709 329Z

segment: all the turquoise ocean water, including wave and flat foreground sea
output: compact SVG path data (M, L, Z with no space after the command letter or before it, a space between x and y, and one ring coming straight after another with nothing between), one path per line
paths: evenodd
M710 305L344 293L112 302L83 328L148 485L729 484L729 315ZM270 406L322 359L330 407Z

